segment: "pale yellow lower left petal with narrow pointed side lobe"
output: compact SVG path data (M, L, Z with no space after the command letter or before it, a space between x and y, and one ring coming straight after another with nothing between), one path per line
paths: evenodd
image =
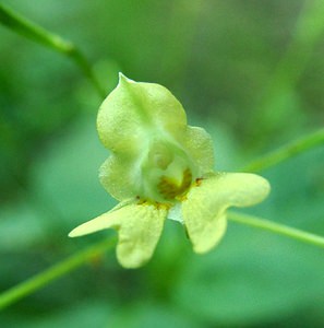
M77 237L104 229L118 231L117 258L124 268L137 268L151 259L160 237L165 208L153 204L125 204L93 219L76 229L69 236Z

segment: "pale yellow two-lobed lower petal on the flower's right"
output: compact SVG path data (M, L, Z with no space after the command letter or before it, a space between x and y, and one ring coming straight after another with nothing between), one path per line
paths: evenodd
M217 245L226 231L226 209L261 202L269 192L263 177L249 173L219 173L192 187L182 203L182 215L196 253Z

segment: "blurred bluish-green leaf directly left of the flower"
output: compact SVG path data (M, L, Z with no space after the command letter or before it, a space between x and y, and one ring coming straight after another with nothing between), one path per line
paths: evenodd
M95 116L91 115L53 142L43 160L35 163L32 189L60 213L63 221L56 224L68 224L71 230L112 208L116 201L98 180L98 168L107 156L98 140Z

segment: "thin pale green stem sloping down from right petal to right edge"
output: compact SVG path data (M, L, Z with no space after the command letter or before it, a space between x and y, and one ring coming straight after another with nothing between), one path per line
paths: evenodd
M237 213L237 212L229 212L228 219L230 221L250 225L257 229L267 230L269 232L285 235L286 237L290 237L293 239L298 239L303 243L313 244L320 247L324 247L324 237L319 235L314 235L295 227L290 227L280 223L276 223L273 221L264 220L257 216Z

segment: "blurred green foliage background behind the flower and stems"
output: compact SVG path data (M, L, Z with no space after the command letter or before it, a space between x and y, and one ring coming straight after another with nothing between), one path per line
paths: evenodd
M217 169L323 127L322 0L7 4L79 45L107 93L119 71L167 86L213 136ZM100 98L77 67L1 25L0 62L4 291L113 235L67 236L116 201L97 178ZM323 163L321 147L263 172L272 195L249 212L324 235ZM169 221L144 268L109 251L0 313L0 327L324 327L323 272L323 249L231 222L197 256Z

